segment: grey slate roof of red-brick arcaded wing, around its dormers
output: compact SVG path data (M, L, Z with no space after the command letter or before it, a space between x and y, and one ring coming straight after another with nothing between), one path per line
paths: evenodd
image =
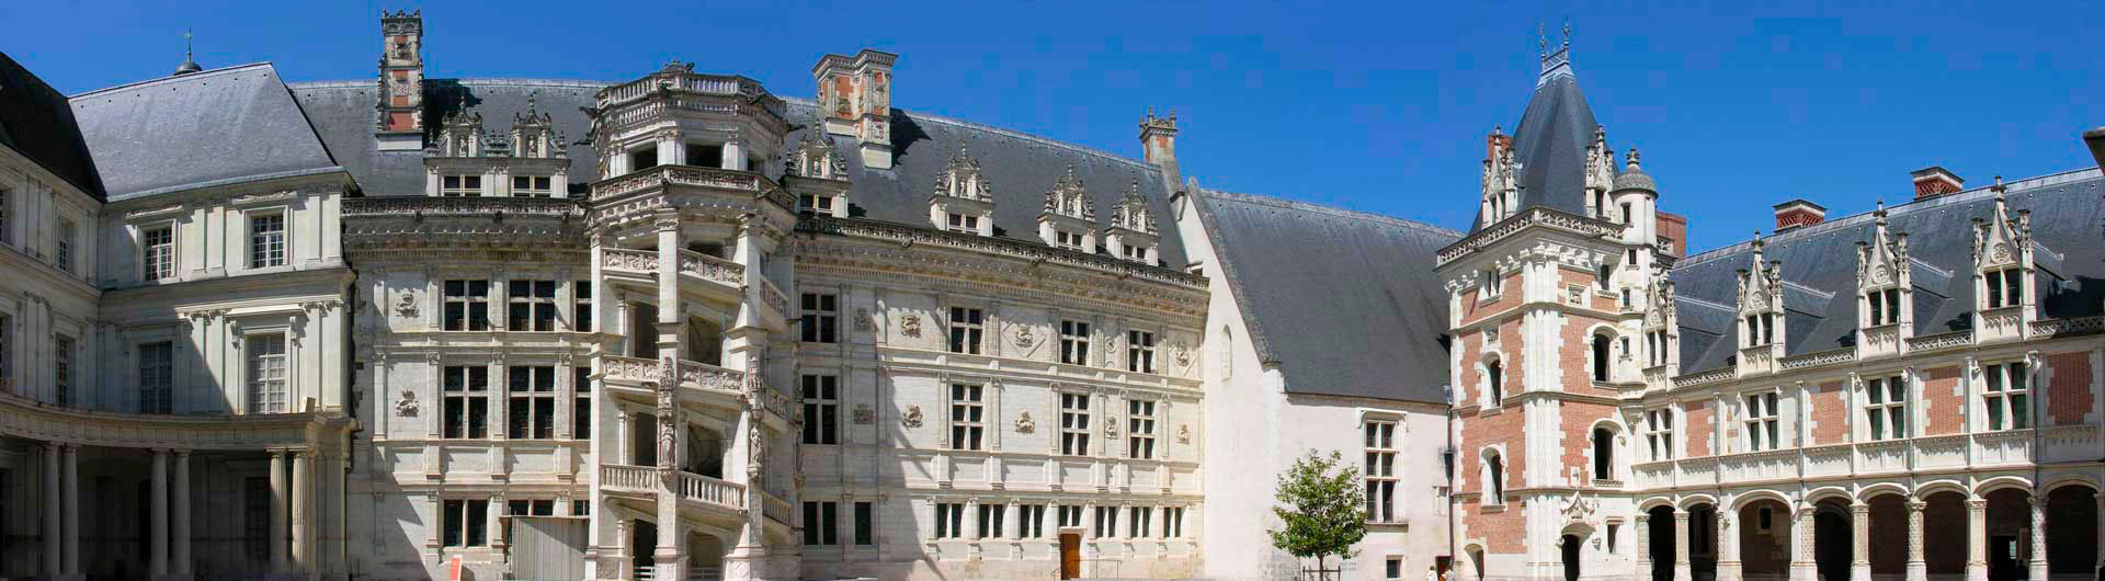
M2031 211L2040 318L2105 312L2105 177L2082 168L2008 183L2010 215ZM1890 206L1888 232L1907 232L1913 259L1916 328L1909 337L1970 328L1972 219L1991 219L1987 187ZM1764 257L1783 261L1785 352L1848 347L1857 330L1857 242L1869 242L1871 215L1766 236ZM1751 242L1692 255L1673 272L1682 330L1682 373L1722 368L1737 349L1735 293L1751 265Z

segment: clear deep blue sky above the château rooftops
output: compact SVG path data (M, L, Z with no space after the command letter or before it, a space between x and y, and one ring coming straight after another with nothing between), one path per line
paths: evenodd
M2105 126L2094 2L8 2L4 21L55 25L11 27L0 51L82 93L168 74L194 27L206 67L368 80L383 8L423 11L432 78L627 80L684 59L808 97L819 55L869 46L901 55L897 107L1135 158L1141 112L1177 107L1206 187L1457 229L1484 133L1511 131L1535 84L1537 23L1558 42L1570 17L1610 147L1644 152L1697 251L1768 229L1789 198L1831 217L1905 200L1928 164L1968 185L2090 166L2078 135Z

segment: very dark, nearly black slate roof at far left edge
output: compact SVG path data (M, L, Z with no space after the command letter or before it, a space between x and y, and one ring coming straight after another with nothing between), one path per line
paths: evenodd
M95 158L80 139L65 95L6 53L0 53L0 145L21 152L88 196L103 198Z

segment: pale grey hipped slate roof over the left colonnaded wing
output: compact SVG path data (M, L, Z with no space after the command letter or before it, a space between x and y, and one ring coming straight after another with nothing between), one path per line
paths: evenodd
M269 63L74 95L109 200L341 171Z

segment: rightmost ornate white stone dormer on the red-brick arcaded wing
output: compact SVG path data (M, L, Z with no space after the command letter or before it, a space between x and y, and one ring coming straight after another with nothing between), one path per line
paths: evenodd
M2010 217L2008 189L1996 177L1996 204L1974 219L1974 341L2019 339L2038 318L2031 282L2031 211Z

